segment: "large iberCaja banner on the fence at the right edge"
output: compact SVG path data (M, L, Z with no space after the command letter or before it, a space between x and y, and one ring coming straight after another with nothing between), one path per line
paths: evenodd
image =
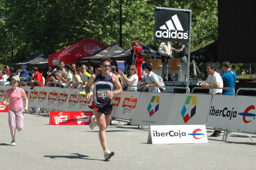
M207 127L256 133L256 98L213 95Z

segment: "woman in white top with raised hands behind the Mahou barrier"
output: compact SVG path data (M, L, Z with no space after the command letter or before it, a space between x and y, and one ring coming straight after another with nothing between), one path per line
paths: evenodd
M130 87L130 86L137 86L138 84L138 75L137 75L137 68L136 66L134 65L131 65L130 68L129 68L129 73L130 73L130 76L127 78L125 77L125 74L119 70L119 75L121 76L121 79L124 83L127 83L129 86L128 88L126 89L126 91L134 91L134 92L137 92L137 87Z

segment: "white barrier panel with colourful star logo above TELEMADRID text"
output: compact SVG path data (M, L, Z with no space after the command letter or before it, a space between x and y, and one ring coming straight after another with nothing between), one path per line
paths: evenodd
M131 124L164 125L169 124L168 117L175 100L170 93L141 92Z

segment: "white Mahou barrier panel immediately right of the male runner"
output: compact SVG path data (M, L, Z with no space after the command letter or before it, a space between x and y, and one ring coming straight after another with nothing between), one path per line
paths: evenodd
M113 99L112 117L132 119L134 112L137 112L139 105L140 92L126 92Z

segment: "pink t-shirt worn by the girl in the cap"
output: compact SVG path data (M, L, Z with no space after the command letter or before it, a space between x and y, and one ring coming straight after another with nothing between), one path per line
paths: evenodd
M9 109L13 110L19 110L23 109L23 89L17 89L16 92L13 91L13 89L9 89L6 91L6 94L10 98L10 103L9 103Z

